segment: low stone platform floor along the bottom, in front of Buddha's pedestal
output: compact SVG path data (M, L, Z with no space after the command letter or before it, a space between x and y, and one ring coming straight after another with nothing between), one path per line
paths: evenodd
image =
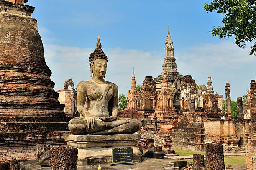
M169 158L151 159L145 158L143 162L136 162L135 165L110 166L109 164L100 164L102 170L179 170L187 164L184 160L174 160ZM176 166L176 167L175 167ZM97 170L98 165L78 166L77 170ZM51 170L51 167L41 167L37 160L29 160L20 163L21 170Z

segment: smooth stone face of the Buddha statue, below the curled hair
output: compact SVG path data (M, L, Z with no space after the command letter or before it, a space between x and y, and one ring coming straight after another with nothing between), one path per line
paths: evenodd
M107 60L98 58L94 61L93 66L90 64L90 68L92 69L93 76L103 79L107 71Z

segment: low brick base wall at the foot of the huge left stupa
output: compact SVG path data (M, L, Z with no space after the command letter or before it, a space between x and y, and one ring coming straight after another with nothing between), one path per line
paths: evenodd
M36 144L67 146L63 140L63 134L67 134L67 132L24 132L1 135L0 163L10 162L13 159L37 159Z

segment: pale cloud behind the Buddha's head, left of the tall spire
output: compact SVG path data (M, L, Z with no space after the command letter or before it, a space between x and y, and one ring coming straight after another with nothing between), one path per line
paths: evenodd
M46 63L52 71L51 80L55 82L55 90L63 88L64 82L72 78L75 86L80 81L89 80L89 55L91 48L45 45ZM134 67L137 84L142 84L145 76L161 73L161 58L153 52L123 50L113 48L104 51L108 56L106 79L118 85L119 94L127 96L131 85Z

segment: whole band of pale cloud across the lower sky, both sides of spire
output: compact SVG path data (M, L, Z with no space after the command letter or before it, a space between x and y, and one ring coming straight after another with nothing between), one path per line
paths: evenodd
M46 63L52 71L54 89L63 88L69 78L75 86L89 80L89 55L92 48L45 45ZM127 96L131 85L132 69L135 69L136 84L142 84L145 76L161 74L164 51L127 50L122 48L103 49L108 56L106 80L118 85L119 94ZM225 83L230 83L231 99L246 93L251 79L256 79L255 56L248 56L248 49L242 50L231 42L202 44L175 51L177 71L192 75L197 84L207 84L212 77L213 88L218 94L225 94Z

